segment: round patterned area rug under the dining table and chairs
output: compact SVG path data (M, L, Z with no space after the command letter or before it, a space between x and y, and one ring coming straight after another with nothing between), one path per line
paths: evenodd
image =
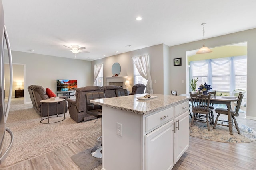
M239 125L241 135L238 134L235 127L233 127L233 135L230 135L228 127L221 125L216 125L215 129L210 125L210 131L208 131L206 123L201 122L194 122L192 127L189 126L189 129L190 136L211 141L228 143L247 143L256 141L256 132L250 127L242 124Z

